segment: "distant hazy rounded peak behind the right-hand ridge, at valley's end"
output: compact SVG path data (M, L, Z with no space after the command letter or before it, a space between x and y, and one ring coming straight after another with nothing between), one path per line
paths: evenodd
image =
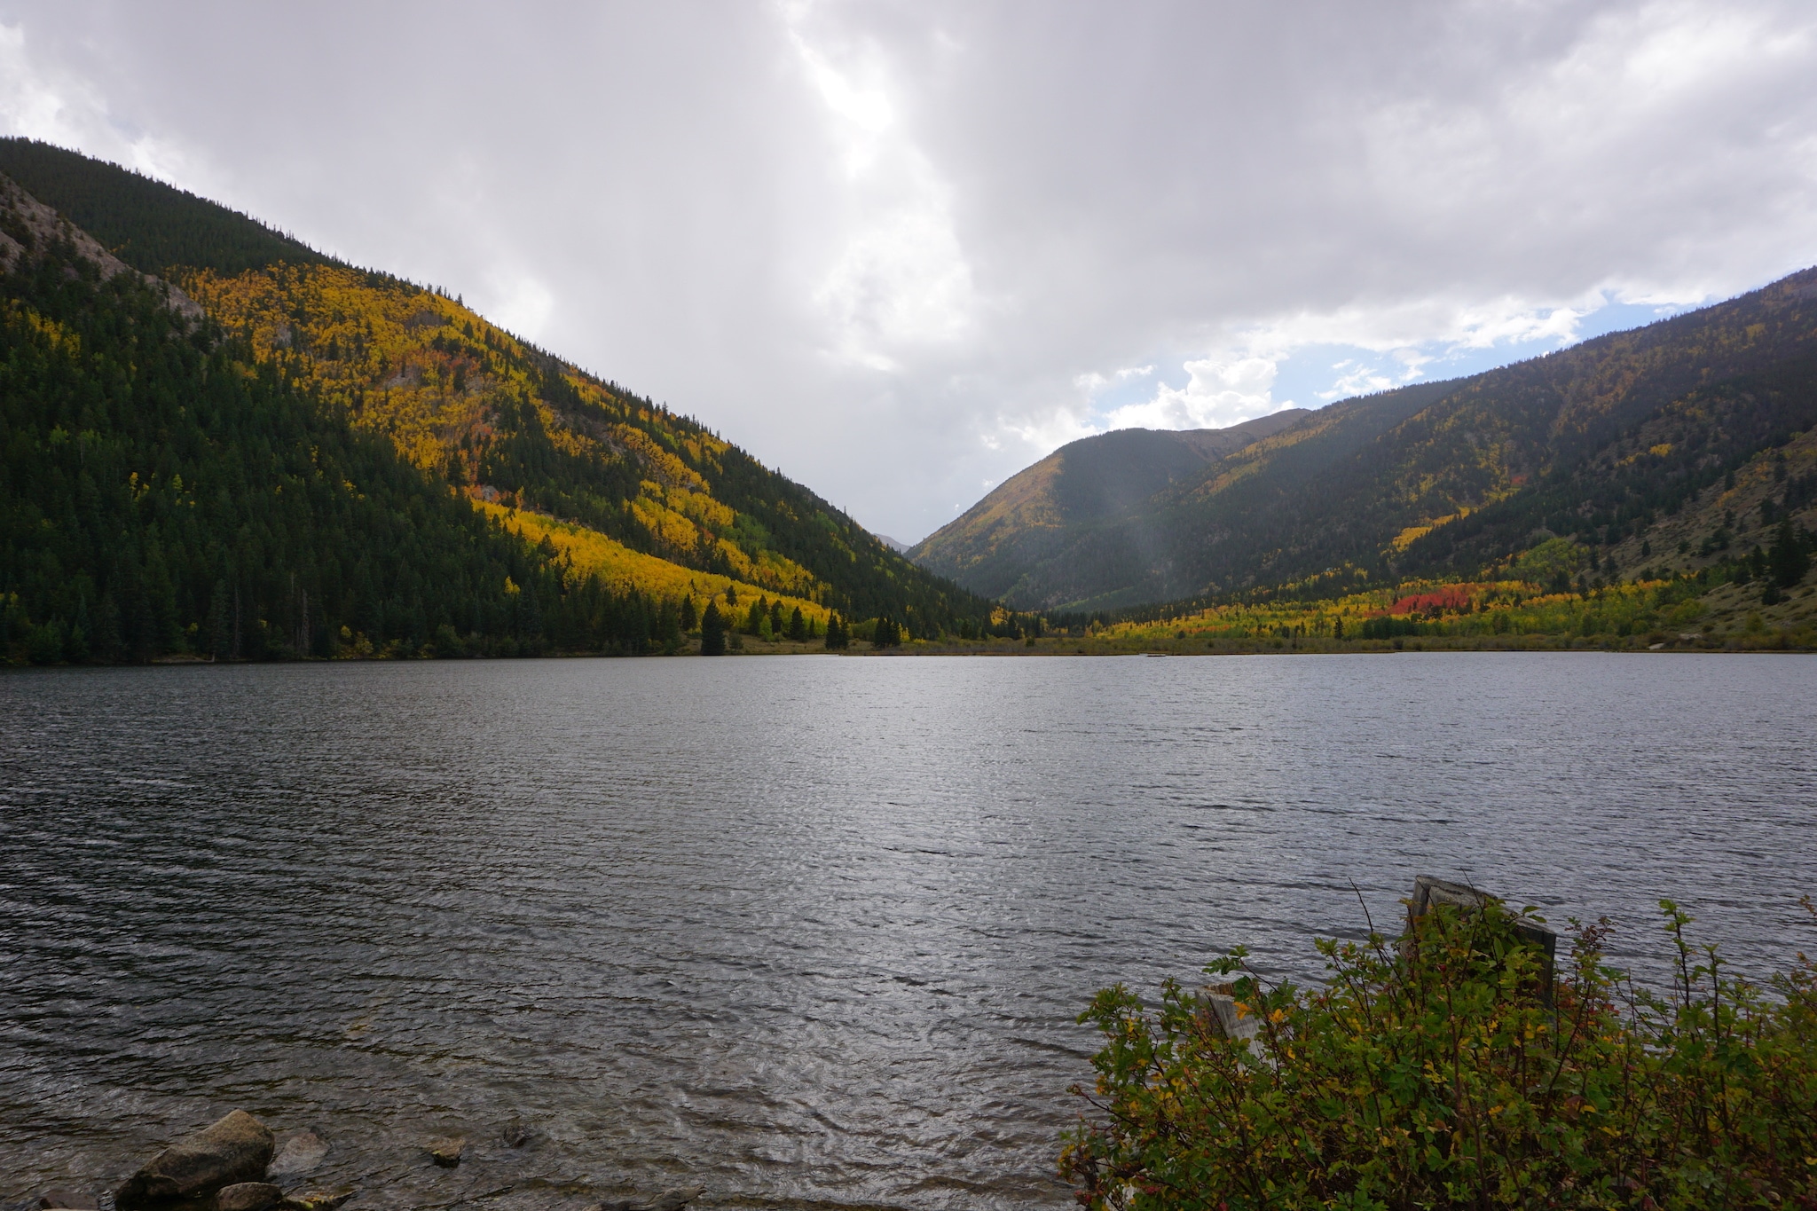
M988 597L1059 605L1034 588L1072 583L1067 568L1096 534L1117 528L1172 485L1196 483L1217 459L1306 416L1305 409L1286 409L1230 428L1119 428L1081 438L1005 479L921 539L908 557ZM1130 557L1127 574L1136 576L1143 554Z

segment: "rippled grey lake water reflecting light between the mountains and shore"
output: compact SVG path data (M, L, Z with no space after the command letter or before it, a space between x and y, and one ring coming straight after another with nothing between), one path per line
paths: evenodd
M1096 988L1317 979L1417 873L1643 971L1663 895L1817 948L1813 703L1802 655L0 675L0 1200L247 1108L354 1207L1067 1206Z

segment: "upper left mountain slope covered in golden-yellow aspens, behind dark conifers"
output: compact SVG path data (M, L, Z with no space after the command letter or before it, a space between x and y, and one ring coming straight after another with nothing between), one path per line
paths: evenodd
M988 614L705 427L454 300L62 149L0 140L0 171L82 214L122 261L184 287L207 310L207 340L254 376L323 423L382 436L440 496L465 496L476 519L521 530L571 568L587 563L612 592L736 581L810 614L892 615L910 634Z

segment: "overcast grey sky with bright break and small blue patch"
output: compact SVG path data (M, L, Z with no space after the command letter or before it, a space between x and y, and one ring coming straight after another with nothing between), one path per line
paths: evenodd
M1808 0L0 0L0 131L443 285L910 541L1090 432L1817 263Z

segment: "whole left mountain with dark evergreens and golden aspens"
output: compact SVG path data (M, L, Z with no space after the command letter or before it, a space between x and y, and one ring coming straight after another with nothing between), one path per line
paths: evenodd
M714 594L910 634L988 617L698 421L458 300L76 153L0 140L0 172L7 349L29 363L4 399L0 645L53 623L67 637L78 615L94 635L94 610L114 610L109 657L200 652L220 594L238 601L238 650L251 617L274 628L269 654L329 654L343 626L398 650L438 634L463 650L640 648ZM96 443L105 465L87 461ZM263 492L285 488L273 512ZM422 557L349 528L380 499L440 536ZM431 557L443 539L472 552ZM165 579L140 626L144 583ZM620 643L614 612L641 612L645 639Z

